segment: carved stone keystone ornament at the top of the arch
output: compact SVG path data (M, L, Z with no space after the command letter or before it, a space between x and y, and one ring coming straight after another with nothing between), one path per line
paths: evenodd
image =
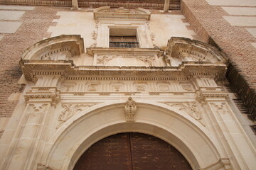
M128 98L128 101L125 103L124 111L125 111L125 119L127 122L135 121L135 113L137 110L136 102L132 99L132 97Z

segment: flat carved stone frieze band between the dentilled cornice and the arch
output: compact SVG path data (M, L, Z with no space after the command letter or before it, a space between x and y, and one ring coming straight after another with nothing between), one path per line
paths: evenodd
M157 92L182 95L194 91L188 81L64 81L63 93Z

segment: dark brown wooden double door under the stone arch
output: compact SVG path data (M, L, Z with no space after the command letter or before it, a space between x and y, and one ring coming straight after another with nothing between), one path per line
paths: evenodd
M164 140L142 133L119 133L96 142L82 154L75 170L188 170L191 166Z

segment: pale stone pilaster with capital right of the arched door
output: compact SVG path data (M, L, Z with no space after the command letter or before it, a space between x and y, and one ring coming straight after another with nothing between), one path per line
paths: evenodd
M224 149L225 169L254 169L255 147L250 142L233 110L228 104L228 92L218 86L214 77L196 77L198 101L206 109L215 137Z

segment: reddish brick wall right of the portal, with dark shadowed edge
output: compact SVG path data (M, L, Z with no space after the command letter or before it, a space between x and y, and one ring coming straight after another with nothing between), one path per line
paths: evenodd
M214 41L228 55L228 81L256 120L256 49L250 44L255 38L245 28L230 26L222 17L227 13L205 0L183 0L181 11L199 40Z

